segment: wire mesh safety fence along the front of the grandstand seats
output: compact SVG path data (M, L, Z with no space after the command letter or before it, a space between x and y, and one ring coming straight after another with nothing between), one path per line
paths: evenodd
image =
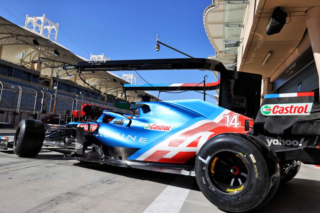
M131 110L115 108L114 103L97 103L84 100L83 97L76 98L67 95L52 94L48 90L36 90L0 81L0 108L7 111L27 111L31 114L40 112L43 114L70 114L73 110L81 110L83 104L91 104L114 110L121 113L132 114Z

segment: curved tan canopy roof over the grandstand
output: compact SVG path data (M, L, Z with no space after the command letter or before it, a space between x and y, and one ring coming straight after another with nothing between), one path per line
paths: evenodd
M35 45L33 40L36 40L39 45ZM57 50L59 55L56 55L53 51ZM48 39L43 34L40 34L36 30L31 29L28 26L18 26L3 17L0 16L0 58L11 63L27 67L40 72L40 76L47 78L52 82L52 77L56 76L56 72L59 72L59 78L71 80L74 83L85 86L84 82L76 75L76 70L71 70L68 73L72 75L68 76L63 69L58 71L58 68L50 68L61 65L59 62L53 62L50 60L42 59L39 57L49 58L57 61L62 61L67 64L77 64L79 61L89 61L88 59L78 56L70 51L68 48L59 44L58 42ZM50 66L50 67L48 67ZM103 92L107 92L110 95L115 95L118 98L124 98L121 96L122 83L129 83L123 80L120 76L112 72L99 72L90 73L82 76L90 84L94 85ZM137 95L145 94L145 91L128 92L130 101L137 102L141 98Z

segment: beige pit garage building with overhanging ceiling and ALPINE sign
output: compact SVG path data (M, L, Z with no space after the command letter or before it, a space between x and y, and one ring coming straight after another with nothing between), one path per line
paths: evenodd
M315 91L319 102L320 1L213 0L203 14L215 57L228 69L262 75L267 93ZM267 35L276 9L287 14L279 33Z

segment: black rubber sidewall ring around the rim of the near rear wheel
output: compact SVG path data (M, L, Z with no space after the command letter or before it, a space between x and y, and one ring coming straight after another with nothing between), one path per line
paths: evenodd
M238 140L241 140L241 138L237 138ZM242 139L243 141L245 139ZM223 140L222 140L223 141ZM266 166L266 162L263 158L263 156L260 154L260 151L254 147L250 142L246 141L247 144L243 145L241 143L233 144L230 143L222 143L219 138L216 138L214 142L211 142L210 140L207 141L204 146L203 150L200 150L197 158L196 158L196 180L198 183L198 186L200 190L204 193L205 197L209 201L211 201L214 205L217 205L219 208L224 210L232 210L232 208L237 208L238 206L241 208L245 208L245 206L252 205L254 208L256 205L259 204L258 201L255 201L256 199L263 199L263 196L267 193L267 185L268 185L268 169ZM208 143L209 142L209 143ZM210 143L212 143L210 145ZM214 157L214 153L220 151L220 150L232 150L239 155L242 156L243 160L245 160L245 164L248 167L248 170L250 171L250 180L248 185L241 189L239 193L232 194L232 195L226 195L222 194L220 190L218 190L215 185L212 183L212 181L208 179L205 180L206 184L203 183L203 177L209 177L209 168L211 168L211 162L212 157ZM247 149L252 149L253 151L248 151ZM239 156L238 155L238 156ZM252 161L252 157L250 155L254 156L255 163ZM261 159L260 159L261 158ZM203 159L208 159L208 161L203 161ZM261 168L263 168L261 170ZM201 169L199 169L201 168ZM206 170L204 171L204 168ZM199 174L197 174L199 172ZM211 172L211 171L210 171ZM200 179L197 176L201 176L201 182ZM201 186L200 186L201 185ZM212 188L215 188L215 191L213 191L211 188L209 188L211 185ZM254 190L259 189L259 190ZM256 193L256 191L258 191ZM257 195L257 196L256 196ZM252 197L255 197L254 200L248 201L252 199ZM249 199L250 198L250 199ZM226 202L228 201L228 202ZM222 204L226 203L226 204ZM222 206L221 206L222 205ZM225 207L225 208L224 208Z

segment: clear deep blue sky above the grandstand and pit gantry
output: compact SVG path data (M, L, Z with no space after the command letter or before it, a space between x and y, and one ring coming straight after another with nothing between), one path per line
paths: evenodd
M59 23L58 42L76 55L90 58L90 53L104 53L110 60L185 58L186 56L162 46L159 40L193 57L207 58L214 49L204 31L203 12L211 0L184 1L2 1L1 16L24 25L26 14L42 16ZM23 23L21 23L21 21ZM72 39L70 39L71 37ZM78 45L78 44L79 45ZM18 56L17 56L18 57ZM115 72L122 76L122 71ZM127 73L127 72L126 72ZM216 81L212 72L199 70L139 71L150 83L200 83ZM137 76L137 83L145 83ZM150 93L158 95L158 92ZM213 95L215 91L208 92ZM203 99L203 94L188 91L180 94L160 94L162 100ZM216 103L207 96L206 101Z

